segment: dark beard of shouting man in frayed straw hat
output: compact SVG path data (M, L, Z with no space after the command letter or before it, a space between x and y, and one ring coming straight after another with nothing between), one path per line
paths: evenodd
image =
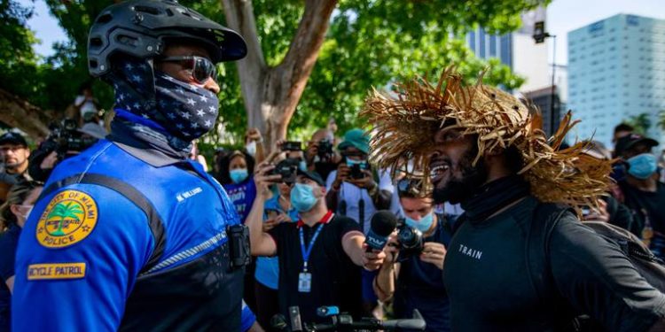
M473 166L473 158L476 153L478 153L477 149L469 149L459 160L458 167L462 173L460 177L450 176L450 181L446 183L445 187L434 187L434 204L465 202L473 197L476 190L487 181L488 174L484 160L480 158Z

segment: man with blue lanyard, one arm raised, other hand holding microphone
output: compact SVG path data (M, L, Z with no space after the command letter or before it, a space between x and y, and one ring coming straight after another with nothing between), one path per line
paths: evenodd
M272 158L269 158L270 161ZM279 258L279 311L288 316L288 307L298 305L302 320L317 320L321 305L336 305L340 311L360 313L360 268L377 269L383 263L382 251L365 252L364 235L354 220L336 215L325 207L325 187L321 177L295 167L291 204L300 213L297 223L281 223L270 231L262 229L270 185L283 181L271 174L275 166L258 167L254 176L258 195L247 225L252 254Z

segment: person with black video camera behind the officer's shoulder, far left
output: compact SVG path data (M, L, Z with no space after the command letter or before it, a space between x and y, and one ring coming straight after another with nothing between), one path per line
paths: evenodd
M77 128L74 120L63 120L51 127L51 135L32 154L27 172L36 181L46 181L59 162L88 149L106 134L106 129L95 123Z

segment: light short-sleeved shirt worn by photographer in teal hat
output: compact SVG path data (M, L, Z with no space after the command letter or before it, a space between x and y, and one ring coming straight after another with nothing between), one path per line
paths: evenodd
M328 178L325 181L325 189L330 190L332 188L332 182L335 181L337 176L337 171L332 171ZM390 179L390 174L385 171L379 171L379 190L387 190L390 193L395 193L395 187L393 186L393 181ZM355 185L348 182L341 182L340 192L338 193L338 212L340 203L342 200L347 202L347 211L345 215L348 218L353 220L358 220L360 218L360 210L358 209L358 203L360 198L363 197L364 200L364 226L363 230L365 233L370 230L372 215L376 212L376 207L370 197L367 189L360 189Z

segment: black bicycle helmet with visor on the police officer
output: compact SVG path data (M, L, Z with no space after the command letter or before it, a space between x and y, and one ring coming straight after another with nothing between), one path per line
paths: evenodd
M117 53L153 58L167 40L193 40L207 47L213 62L245 58L245 40L235 31L173 0L132 0L102 11L88 36L88 70L94 77L110 71Z

